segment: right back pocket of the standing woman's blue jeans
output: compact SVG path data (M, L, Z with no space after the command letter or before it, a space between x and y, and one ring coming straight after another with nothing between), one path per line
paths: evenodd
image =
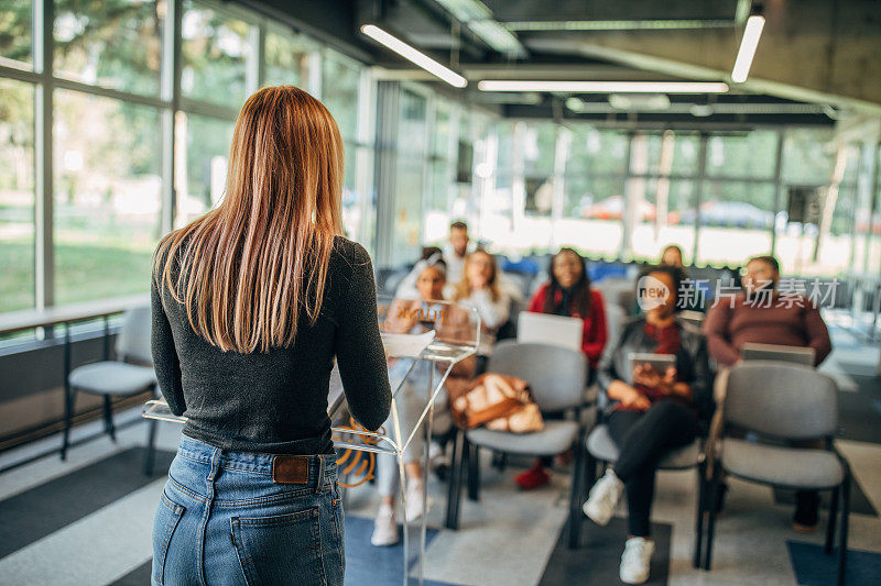
M230 519L232 543L250 586L326 585L318 507Z

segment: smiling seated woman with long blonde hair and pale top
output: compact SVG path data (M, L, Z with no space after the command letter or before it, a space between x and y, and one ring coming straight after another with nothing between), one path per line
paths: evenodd
M499 286L499 269L496 257L478 248L465 259L465 274L453 292L453 300L477 309L480 316L480 346L477 354L481 362L492 353L496 332L508 320L511 298ZM483 371L482 364L478 374Z

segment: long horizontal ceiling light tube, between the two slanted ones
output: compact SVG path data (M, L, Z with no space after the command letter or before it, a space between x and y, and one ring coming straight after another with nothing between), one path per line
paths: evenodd
M720 81L525 81L483 79L481 91L563 91L570 93L725 93Z

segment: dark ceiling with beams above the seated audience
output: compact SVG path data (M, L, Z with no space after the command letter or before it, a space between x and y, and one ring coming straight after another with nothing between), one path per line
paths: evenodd
M518 118L610 124L829 125L881 112L877 2L850 0L240 0L337 45L390 77ZM847 4L847 5L841 5ZM766 18L750 79L731 85L743 22ZM377 24L469 80L455 90L359 32ZM728 93L668 96L670 106L607 95L490 93L480 79L713 80ZM572 98L576 98L573 100ZM627 100L626 100L627 102ZM662 101L663 106L663 101Z

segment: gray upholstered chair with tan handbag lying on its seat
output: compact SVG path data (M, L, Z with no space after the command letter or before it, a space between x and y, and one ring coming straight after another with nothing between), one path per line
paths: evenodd
M468 497L471 500L479 498L480 447L529 456L553 456L574 449L575 463L569 491L569 546L577 545L581 517L579 499L584 493L585 425L580 410L587 369L587 361L580 351L512 340L496 345L487 372L511 375L527 382L542 412L574 409L576 418L546 419L544 430L535 433L507 433L483 428L457 433L447 499L446 526L449 529L457 529L459 524L459 494L465 461L468 463Z

